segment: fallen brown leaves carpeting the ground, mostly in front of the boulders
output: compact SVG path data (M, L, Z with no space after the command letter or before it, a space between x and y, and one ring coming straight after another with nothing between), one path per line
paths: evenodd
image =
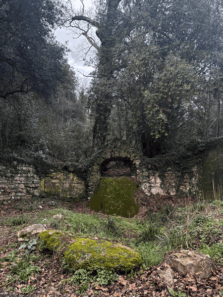
M174 201L174 198L168 198L165 200L162 198L162 203L166 202L177 202ZM151 207L154 210L157 210L156 199L148 198L148 201L151 202ZM183 201L181 201L183 204ZM64 202L65 203L65 202ZM10 207L9 207L10 206ZM45 206L44 206L45 207ZM47 206L46 206L47 207ZM143 208L143 207L142 207ZM75 203L73 209L77 212L84 212L84 206L81 204ZM139 213L138 217L143 217L143 215L148 210L147 207ZM13 215L18 215L17 210L11 208L11 205L8 205L7 211L10 211ZM6 212L6 210L4 211ZM86 209L87 213L92 213L93 211L89 208ZM1 215L6 215L6 213L1 212ZM104 216L103 214L100 214ZM95 237L97 239L97 237ZM1 251L1 257L4 257L6 253L9 253L14 250L14 247L10 245L14 244L17 240L16 232L10 227L1 227L0 226L0 246L6 247L4 251ZM19 255L18 255L19 256ZM0 283L6 282L8 270L8 263L3 262L0 266ZM27 288L28 285L35 287L35 293L31 294L32 297L80 297L80 288L81 286L74 285L70 282L71 275L64 273L61 268L61 263L57 258L52 258L43 256L35 265L38 265L41 268L41 273L39 275L35 274L30 277L27 283L16 281L15 284L12 284L13 289L17 292L17 296L23 296L21 293L22 288ZM167 285L161 282L159 278L159 270L166 270L169 267L168 264L163 263L158 267L150 267L149 270L144 271L143 273L138 272L136 277L132 279L127 279L125 275L120 275L118 280L112 283L109 286L101 286L98 283L89 283L87 291L82 296L91 296L91 297L167 297L169 292ZM223 266L216 269L213 276L207 280L199 280L193 276L181 276L177 272L174 272L174 285L172 289L175 292L178 292L177 289L180 288L182 293L186 293L187 297L220 297L221 290L223 290ZM0 296L4 296L4 292L7 288L0 289ZM2 294L1 294L2 293ZM136 293L136 294L135 294ZM18 295L19 294L19 295Z

